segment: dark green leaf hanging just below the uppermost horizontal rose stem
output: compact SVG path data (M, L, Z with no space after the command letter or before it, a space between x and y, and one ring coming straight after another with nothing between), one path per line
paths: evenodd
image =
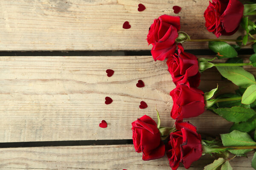
M233 58L237 56L236 50L223 41L209 41L209 49L218 54L218 58Z

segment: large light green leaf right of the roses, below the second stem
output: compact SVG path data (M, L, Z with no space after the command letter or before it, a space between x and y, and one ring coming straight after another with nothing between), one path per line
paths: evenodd
M223 77L229 79L239 87L247 88L250 85L256 84L253 74L249 73L248 71L245 71L244 68L241 68L239 66L218 66L216 68Z

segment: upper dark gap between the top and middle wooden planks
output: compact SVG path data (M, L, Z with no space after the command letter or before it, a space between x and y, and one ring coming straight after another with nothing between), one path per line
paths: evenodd
M209 49L185 50L195 55L215 55ZM251 55L253 49L241 49L239 55ZM0 51L0 56L151 56L149 50L142 51Z

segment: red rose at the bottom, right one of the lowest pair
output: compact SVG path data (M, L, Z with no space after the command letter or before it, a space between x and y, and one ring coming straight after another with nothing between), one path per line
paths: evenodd
M175 122L175 125L178 131L170 134L166 154L172 170L177 170L180 162L188 169L202 156L201 135L189 122Z

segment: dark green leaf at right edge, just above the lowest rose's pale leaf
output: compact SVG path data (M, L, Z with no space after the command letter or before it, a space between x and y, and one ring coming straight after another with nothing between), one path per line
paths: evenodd
M241 132L249 133L250 131L255 130L255 128L256 128L256 116L253 116L247 122L234 123L230 127L230 131L239 130Z

